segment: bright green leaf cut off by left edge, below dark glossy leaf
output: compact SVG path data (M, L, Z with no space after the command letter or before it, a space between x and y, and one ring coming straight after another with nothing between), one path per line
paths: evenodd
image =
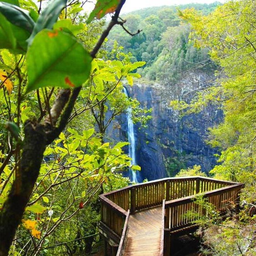
M10 22L8 22L5 16L0 13L0 48L15 49L15 47L16 40Z

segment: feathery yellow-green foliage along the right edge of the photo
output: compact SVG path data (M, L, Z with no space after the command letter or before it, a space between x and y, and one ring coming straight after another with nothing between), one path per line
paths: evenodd
M173 102L185 114L198 112L207 104L216 104L224 113L221 124L211 128L208 141L218 147L219 164L211 174L216 178L246 184L241 194L244 204L255 203L255 2L229 1L209 15L195 9L180 16L191 25L190 38L196 47L209 50L219 65L217 84L197 91L190 102ZM246 209L246 207L245 207ZM255 222L245 211L240 221L229 219L220 230L206 232L211 255L255 255ZM249 228L250 227L250 228ZM254 233L254 234L253 234ZM211 238L210 238L211 236Z

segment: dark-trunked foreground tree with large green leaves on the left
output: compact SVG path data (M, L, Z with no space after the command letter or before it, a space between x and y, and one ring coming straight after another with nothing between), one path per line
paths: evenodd
M0 212L0 255L7 255L9 251L15 231L34 191L47 146L51 145L60 136L59 141L55 143L62 143L64 149L68 150L68 152L70 151L69 146L65 148L66 138L65 135L61 135L61 131L65 129L69 121L75 102L78 100L82 89L81 85L89 78L92 59L95 58L111 28L116 24L120 24L118 16L125 0L120 1L120 3L117 0L111 0L108 3L101 0L97 1L95 9L87 19L87 23L90 23L95 16L101 18L106 13L114 10L115 15L113 15L110 24L90 53L85 50L84 46L74 36L75 31L78 29L77 26L79 26L75 25L75 18L78 11L81 10L72 9L72 5L77 4L76 1L69 1L68 5L66 5L66 0L52 1L39 16L35 11L37 7L32 1L13 0L7 2L11 2L13 5L0 2L0 45L2 48L10 50L11 55L6 50L1 51L3 63L1 68L7 72L1 72L0 79L2 81L1 86L6 89L2 91L2 96L6 101L7 120L10 121L7 123L8 141L10 143L9 153L1 166L1 173L3 173L14 154L13 171L15 172L15 180L12 182L10 192L6 195L7 199ZM19 6L29 9L30 12ZM64 11L62 11L63 9ZM40 13L40 10L38 12ZM68 12L73 15L72 20L62 19L62 17L67 16ZM51 15L49 15L50 13ZM61 20L56 23L59 15ZM60 47L60 45L62 46ZM40 59L37 59L39 54ZM125 77L129 70L121 70L120 72ZM15 96L11 94L13 90L12 80L17 83L15 88L17 88L18 93ZM56 85L61 89L57 92L56 98L53 99ZM70 87L74 88L70 89ZM33 93L34 90L37 90L35 94ZM7 91L10 94L10 98L8 98ZM39 105L39 109L36 111L36 114L39 114L37 119L30 118L36 115L31 113L29 106L26 105L29 94L33 95L33 97L37 95ZM42 106L41 98L45 101L46 110ZM14 104L16 108L13 107ZM14 113L10 110L14 110ZM24 127L23 120L25 120ZM20 130L20 128L23 128L24 131ZM85 148L90 145L90 151L98 152L98 157L94 157L94 159L90 159L84 151L80 151L81 155L79 156L81 157L80 161L87 161L90 166L92 163L97 163L98 167L96 169L99 169L102 163L109 161L109 155L117 159L120 156L121 146L124 146L124 144L119 144L113 149L109 149L108 145L101 145L100 141L95 139L90 141L90 136L94 132L92 130L83 134L83 140L75 131L70 130L69 132L70 139L74 142L73 150L77 150L79 143L83 141ZM75 142L76 139L80 141ZM111 150L112 153L110 154ZM63 147L59 147L59 151L59 154L61 154ZM66 153L62 152L62 159L65 158L65 155ZM55 159L55 165L60 160ZM126 160L124 159L124 161ZM110 170L112 167L111 165L105 165L105 168ZM8 175L5 171L5 175ZM10 177L13 171L10 172ZM47 169L45 171L47 172ZM71 173L70 175L79 176L81 174L82 171L77 174ZM67 177L67 180L73 181L73 176ZM10 186L9 183L11 181L9 178L3 185L5 187L7 185ZM47 197L44 194L36 200L41 198L47 201ZM71 201L76 201L75 195L72 196ZM83 205L84 203L81 202L76 211L82 208ZM43 207L36 207L39 209L35 209L34 206L34 211L44 211ZM68 205L67 209L69 209ZM48 211L48 214L51 214L51 212ZM31 229L32 234L34 232L35 237L40 236L40 232L35 229L35 222L33 222L33 225L29 225L28 222L26 224Z

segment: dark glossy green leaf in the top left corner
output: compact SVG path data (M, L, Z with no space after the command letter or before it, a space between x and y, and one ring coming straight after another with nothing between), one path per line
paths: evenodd
M32 32L35 22L29 15L29 11L21 9L16 5L0 2L0 12L11 24Z

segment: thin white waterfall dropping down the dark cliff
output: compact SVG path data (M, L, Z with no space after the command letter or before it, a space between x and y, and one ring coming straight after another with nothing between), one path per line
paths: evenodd
M124 93L125 95L128 97L128 92L126 90L126 88L124 87ZM128 142L129 144L129 156L131 157L131 164L132 165L136 165L136 144L135 144L135 136L134 136L134 125L133 125L133 121L132 121L132 115L131 115L131 107L127 108L127 133L128 133ZM132 182L140 182L139 181L139 174L136 171L132 171L130 169L130 176L131 176L131 181Z

